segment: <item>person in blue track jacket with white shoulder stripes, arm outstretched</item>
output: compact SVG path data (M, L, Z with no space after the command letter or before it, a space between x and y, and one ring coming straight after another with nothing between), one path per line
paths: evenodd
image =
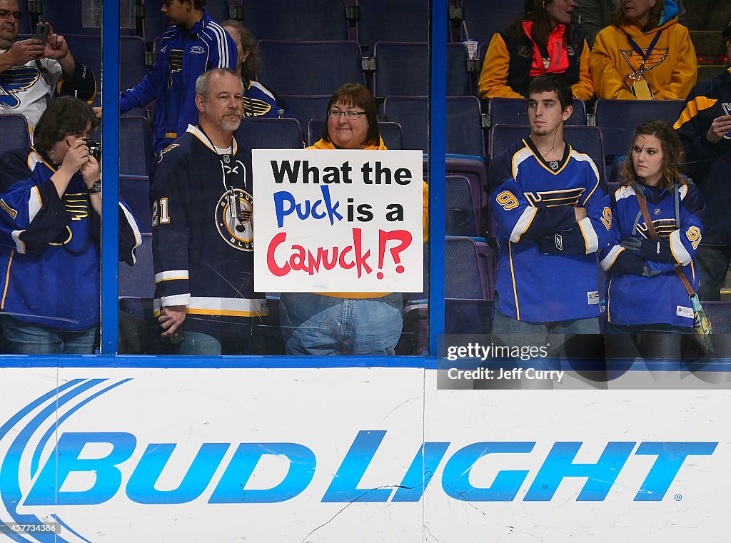
M162 12L173 26L162 33L157 62L135 88L122 92L121 113L155 100L153 139L159 153L196 124L195 80L211 68L235 68L236 45L203 10L205 0L164 0Z

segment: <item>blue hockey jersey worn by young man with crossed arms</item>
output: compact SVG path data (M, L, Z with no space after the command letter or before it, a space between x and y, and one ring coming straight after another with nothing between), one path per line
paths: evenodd
M490 165L498 310L526 322L599 316L596 251L609 241L609 197L589 156L565 144L545 162L529 138ZM586 208L578 222L575 207Z

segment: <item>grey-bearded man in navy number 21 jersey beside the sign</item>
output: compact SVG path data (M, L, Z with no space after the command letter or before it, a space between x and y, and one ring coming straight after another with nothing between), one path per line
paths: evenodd
M251 274L251 156L233 137L243 87L223 68L195 87L198 124L162 151L152 176L155 314L181 354L256 354L267 305Z

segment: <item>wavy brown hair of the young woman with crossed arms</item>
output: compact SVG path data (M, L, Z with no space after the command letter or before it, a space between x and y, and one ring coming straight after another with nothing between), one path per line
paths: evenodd
M637 180L635 163L632 161L632 150L635 148L635 141L639 136L654 136L660 140L663 158L662 178L660 178L658 184L660 188L669 190L676 181L683 184L688 183L686 177L681 175L685 151L683 151L683 145L678 138L678 134L675 134L673 126L665 121L647 121L638 124L635 128L635 134L632 136L632 145L629 146L627 156L622 164L621 182L623 186L632 185Z

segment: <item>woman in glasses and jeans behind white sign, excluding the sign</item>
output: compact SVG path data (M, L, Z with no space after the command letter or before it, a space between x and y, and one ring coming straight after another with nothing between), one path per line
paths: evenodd
M366 87L341 86L327 102L322 139L309 148L385 150L376 110ZM283 293L280 324L287 354L394 354L401 336L401 293Z

